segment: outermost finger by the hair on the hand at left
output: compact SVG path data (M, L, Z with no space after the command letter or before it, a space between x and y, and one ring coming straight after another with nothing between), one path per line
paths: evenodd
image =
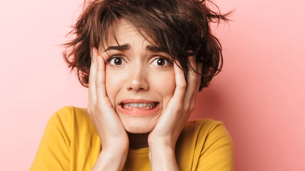
M95 78L96 78L96 71L97 71L97 49L95 47L92 48L91 51L91 66L90 66L90 73L89 73L89 96L90 102L95 104L96 103L96 91L95 91Z

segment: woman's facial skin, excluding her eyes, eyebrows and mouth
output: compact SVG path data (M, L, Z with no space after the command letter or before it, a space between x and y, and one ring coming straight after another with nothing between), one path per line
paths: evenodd
M106 92L116 110L124 128L130 133L148 133L156 126L160 115L165 109L175 91L175 73L173 65L160 67L156 65L156 57L163 56L171 59L165 53L146 51L149 45L135 28L125 20L114 23L115 37L120 45L130 44L127 51L110 50L99 47L99 55L106 61L117 55L126 62L115 67L106 64ZM108 46L117 46L111 32L108 33ZM171 59L172 60L172 59ZM113 59L114 62L114 59ZM155 64L155 65L153 65ZM152 116L129 116L120 113L117 106L123 99L149 99L160 103L161 110Z

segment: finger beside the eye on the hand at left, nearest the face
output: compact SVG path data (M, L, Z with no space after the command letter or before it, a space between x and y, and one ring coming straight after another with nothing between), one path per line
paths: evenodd
M105 103L105 99L108 99L106 95L106 85L105 85L105 77L106 77L106 70L105 70L105 61L102 56L98 56L98 67L96 72L96 80L95 80L95 87L96 87L96 98L97 102ZM108 103L107 100L106 103Z

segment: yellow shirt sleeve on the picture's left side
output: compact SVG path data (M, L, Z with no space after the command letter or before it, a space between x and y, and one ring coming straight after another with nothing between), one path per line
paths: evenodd
M70 170L72 108L54 113L45 127L30 171Z

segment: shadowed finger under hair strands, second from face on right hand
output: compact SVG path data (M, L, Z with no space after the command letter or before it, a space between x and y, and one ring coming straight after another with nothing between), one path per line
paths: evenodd
M192 68L196 71L196 56L191 56L189 58L190 64ZM192 69L190 66L188 68L188 85L185 90L183 104L188 107L190 105L192 96L196 90L196 83L197 83L197 73Z

